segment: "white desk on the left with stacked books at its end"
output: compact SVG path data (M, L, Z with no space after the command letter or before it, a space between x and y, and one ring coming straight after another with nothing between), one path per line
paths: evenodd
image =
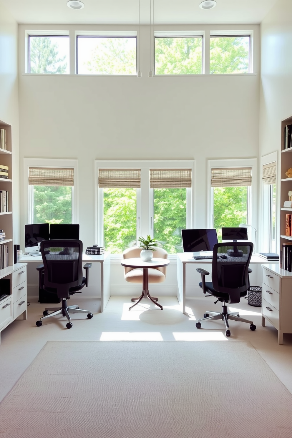
M93 269L100 267L100 311L103 312L110 297L110 253L105 252L102 255L82 254L82 261L84 263L91 262ZM40 265L42 263L42 256L23 255L20 263Z

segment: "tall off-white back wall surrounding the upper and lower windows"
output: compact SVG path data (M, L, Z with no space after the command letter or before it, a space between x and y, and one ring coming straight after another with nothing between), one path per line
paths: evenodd
M36 28L75 30L74 26L19 25L20 163L25 157L78 159L84 246L91 245L95 236L95 159L195 159L194 226L207 226L207 160L258 156L259 26L216 26L254 30L256 74L154 78L148 78L149 28L142 26L141 79L25 74L25 29ZM24 247L27 218L22 199L23 192ZM121 267L112 268L114 282L116 275L124 282Z

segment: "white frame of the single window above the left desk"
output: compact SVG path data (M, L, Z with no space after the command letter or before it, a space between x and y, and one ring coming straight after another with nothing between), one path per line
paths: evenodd
M27 224L33 223L33 186L28 184L29 167L54 167L73 168L74 186L72 186L72 223L79 223L78 215L78 160L75 159L46 159L24 158L24 202L25 220Z

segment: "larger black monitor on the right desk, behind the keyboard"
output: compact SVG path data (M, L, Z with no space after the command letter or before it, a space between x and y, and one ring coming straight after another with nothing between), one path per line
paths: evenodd
M213 251L218 244L215 228L182 230L182 240L184 252Z

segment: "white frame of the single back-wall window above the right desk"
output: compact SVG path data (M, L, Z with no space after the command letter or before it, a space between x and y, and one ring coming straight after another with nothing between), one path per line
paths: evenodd
M247 187L247 221L257 228L257 159L218 159L208 160L208 228L213 228L214 190L211 187L211 169L251 167L252 183ZM256 243L255 243L256 245Z

